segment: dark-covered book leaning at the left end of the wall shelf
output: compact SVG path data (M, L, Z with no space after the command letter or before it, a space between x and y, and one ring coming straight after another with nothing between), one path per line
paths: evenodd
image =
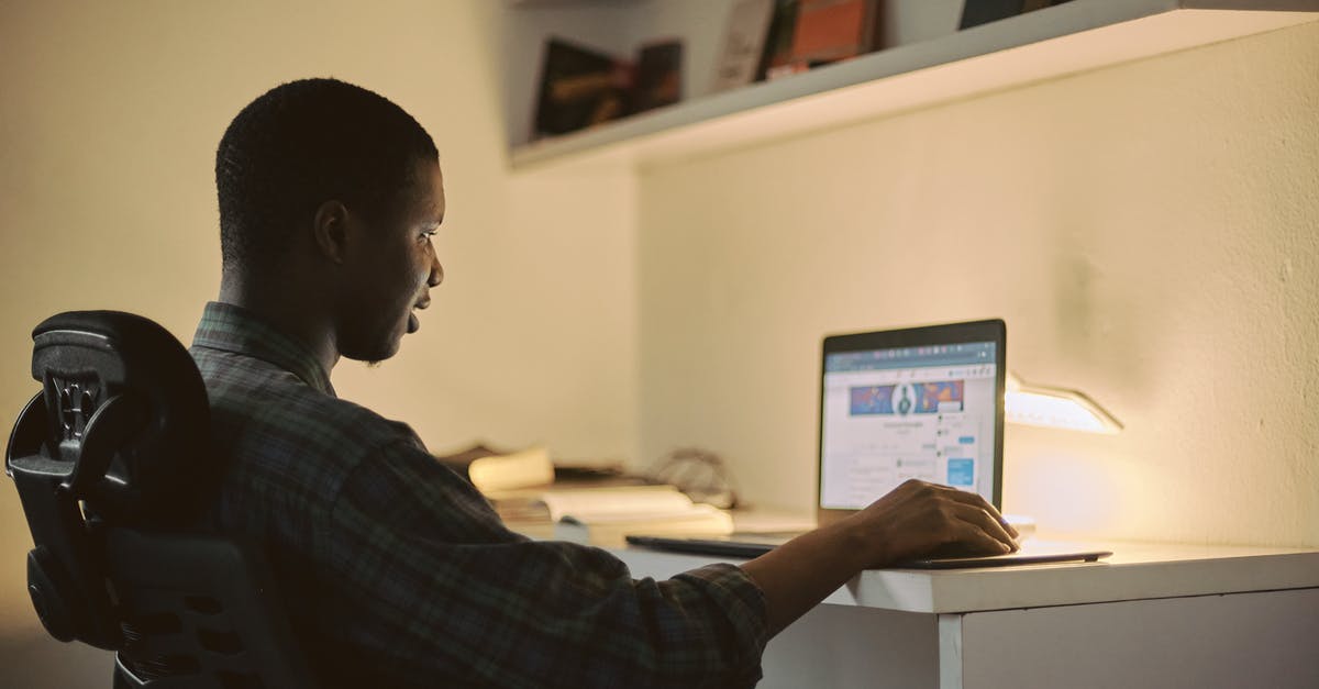
M575 132L627 115L629 84L625 62L550 38L541 63L533 139Z

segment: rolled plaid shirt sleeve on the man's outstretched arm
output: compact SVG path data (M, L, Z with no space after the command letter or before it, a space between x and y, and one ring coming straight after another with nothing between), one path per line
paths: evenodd
M633 579L599 548L508 531L419 441L359 466L323 536L344 606L324 630L400 681L753 686L765 602L739 568Z

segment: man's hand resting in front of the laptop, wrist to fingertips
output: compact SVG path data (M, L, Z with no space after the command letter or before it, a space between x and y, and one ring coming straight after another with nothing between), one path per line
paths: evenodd
M1017 529L975 492L907 480L843 524L867 553L864 566L885 568L930 554L977 556L1017 550Z

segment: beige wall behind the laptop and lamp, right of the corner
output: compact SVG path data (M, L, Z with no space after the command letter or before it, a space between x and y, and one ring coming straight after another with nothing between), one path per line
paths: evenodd
M642 174L642 454L814 504L826 333L1002 317L1120 436L1008 428L1005 507L1319 545L1319 24Z

